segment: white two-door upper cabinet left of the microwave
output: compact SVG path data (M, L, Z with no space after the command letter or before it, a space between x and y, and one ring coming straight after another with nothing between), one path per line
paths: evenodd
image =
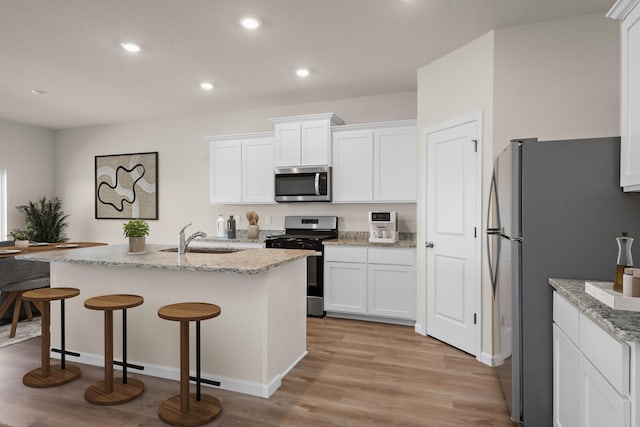
M209 147L211 203L275 203L270 134L216 137Z

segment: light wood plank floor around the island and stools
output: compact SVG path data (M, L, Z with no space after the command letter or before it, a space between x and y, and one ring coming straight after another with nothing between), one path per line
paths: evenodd
M412 327L309 318L308 350L270 399L205 387L223 407L210 426L512 427L494 369ZM0 349L0 425L165 425L158 404L177 382L132 374L145 383L140 398L97 407L83 396L103 378L98 367L81 365L80 379L53 389L23 386L39 351L39 338Z

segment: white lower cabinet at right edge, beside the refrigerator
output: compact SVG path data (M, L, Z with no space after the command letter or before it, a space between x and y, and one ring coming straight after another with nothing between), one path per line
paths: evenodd
M554 292L553 425L631 426L630 348Z

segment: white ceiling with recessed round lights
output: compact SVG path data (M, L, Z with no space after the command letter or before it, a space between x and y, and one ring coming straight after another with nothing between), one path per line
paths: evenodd
M410 91L492 28L613 1L0 0L0 118L62 129ZM238 25L249 14L255 32Z

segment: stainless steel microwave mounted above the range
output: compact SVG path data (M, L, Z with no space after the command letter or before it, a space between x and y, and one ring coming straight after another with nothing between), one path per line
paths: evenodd
M276 202L330 202L330 166L275 168Z

